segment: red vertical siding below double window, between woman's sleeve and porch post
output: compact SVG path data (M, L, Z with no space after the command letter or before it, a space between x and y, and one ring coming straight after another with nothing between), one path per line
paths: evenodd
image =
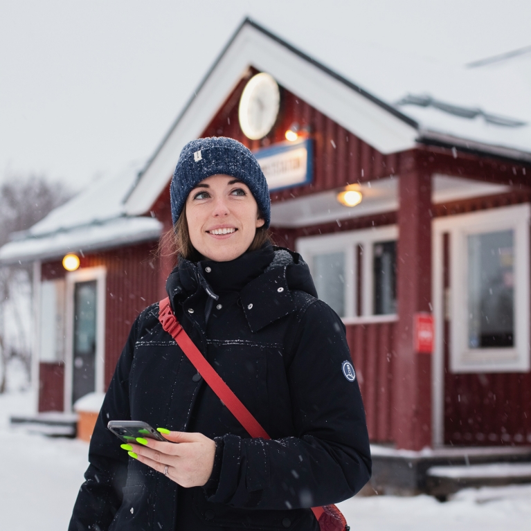
M373 442L393 440L393 359L397 323L347 326L347 341Z

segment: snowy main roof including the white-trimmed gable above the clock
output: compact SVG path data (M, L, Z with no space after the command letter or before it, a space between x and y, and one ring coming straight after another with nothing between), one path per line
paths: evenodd
M531 161L531 75L521 75L522 57L505 61L499 75L493 63L451 66L360 47L352 35L316 39L293 28L291 39L298 46L249 19L242 23L143 170L127 213L151 208L183 145L202 134L249 66L381 153L442 142Z

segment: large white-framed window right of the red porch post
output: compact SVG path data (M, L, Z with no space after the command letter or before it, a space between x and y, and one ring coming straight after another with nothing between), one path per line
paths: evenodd
M441 337L446 318L452 372L530 370L530 217L530 205L524 204L435 221L435 334ZM449 238L446 296L440 265L444 234Z

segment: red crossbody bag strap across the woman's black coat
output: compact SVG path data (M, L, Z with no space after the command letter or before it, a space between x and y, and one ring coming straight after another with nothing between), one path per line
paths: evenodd
M222 380L213 366L206 361L206 358L195 346L195 343L190 339L190 336L183 330L183 327L175 318L172 308L170 307L170 298L166 297L159 303L159 321L163 329L172 336L181 347L186 357L192 362L192 365L197 369L197 372L204 378L210 389L216 393L217 397L225 404L245 430L252 438L261 437L262 439L271 439L266 431L260 426L258 420L251 415L240 399L231 391L231 388ZM317 520L323 514L323 507L312 507Z

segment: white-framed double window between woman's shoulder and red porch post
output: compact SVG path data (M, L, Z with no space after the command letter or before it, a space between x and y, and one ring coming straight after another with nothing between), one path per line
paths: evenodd
M308 262L317 294L345 319L395 318L397 227L304 237L297 250Z

